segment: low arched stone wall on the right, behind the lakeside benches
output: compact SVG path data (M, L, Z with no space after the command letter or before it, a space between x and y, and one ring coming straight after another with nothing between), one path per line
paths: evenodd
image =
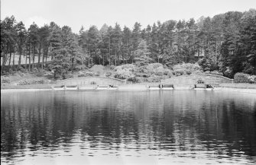
M161 84L198 84L199 82L203 84L222 84L222 83L232 83L233 79L225 78L220 75L182 75L173 78L168 78L162 80Z

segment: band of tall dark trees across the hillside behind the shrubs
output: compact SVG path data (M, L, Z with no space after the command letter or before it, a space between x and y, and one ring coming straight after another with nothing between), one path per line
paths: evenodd
M14 65L15 56L18 65ZM21 56L28 59L28 68L21 67ZM145 28L138 22L132 29L118 23L103 24L100 29L82 26L79 33L54 22L43 27L31 24L26 29L14 16L5 17L1 20L1 58L2 75L37 68L61 76L93 65L151 63L170 69L198 64L204 72L217 71L228 78L238 72L256 75L256 10L228 11L196 21L157 21Z

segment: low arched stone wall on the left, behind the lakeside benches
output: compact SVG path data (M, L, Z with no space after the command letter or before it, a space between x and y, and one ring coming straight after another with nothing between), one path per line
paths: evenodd
M116 78L101 78L101 77L81 77L81 78L69 78L63 81L57 81L57 84L66 85L115 85L115 84L125 84L124 80L119 80Z

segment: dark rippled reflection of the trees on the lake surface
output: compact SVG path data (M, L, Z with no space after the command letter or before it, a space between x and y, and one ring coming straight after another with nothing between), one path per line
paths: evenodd
M15 96L15 97L14 97ZM1 100L1 151L56 148L79 139L96 144L177 151L212 150L218 144L256 155L255 103L246 96L210 91L58 91L5 94ZM241 142L242 141L242 142ZM151 142L155 142L154 144ZM212 147L211 144L216 144ZM217 148L218 149L218 148ZM221 151L223 148L219 148Z

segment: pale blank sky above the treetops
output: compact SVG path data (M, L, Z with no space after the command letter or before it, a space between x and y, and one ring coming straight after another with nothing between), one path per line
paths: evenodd
M54 21L67 25L78 33L83 25L88 29L118 22L132 28L135 21L142 27L170 19L188 20L214 16L226 11L248 11L256 8L256 0L1 0L1 20L14 15L29 27Z

